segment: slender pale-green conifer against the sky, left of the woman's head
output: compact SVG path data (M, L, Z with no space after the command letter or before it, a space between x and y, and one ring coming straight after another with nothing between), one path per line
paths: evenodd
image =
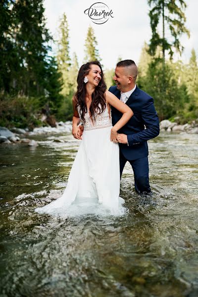
M58 51L57 51L57 62L58 71L62 75L63 86L61 94L63 96L68 96L70 93L69 84L69 68L71 66L71 59L69 56L69 28L66 14L60 19L60 25L58 29L59 40L58 40Z

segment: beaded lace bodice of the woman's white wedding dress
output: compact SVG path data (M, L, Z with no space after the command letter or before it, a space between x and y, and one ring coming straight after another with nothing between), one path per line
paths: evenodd
M77 107L77 110L78 110L79 117L81 119L80 106ZM84 125L84 130L102 129L102 128L112 126L111 113L109 118L107 105L102 113L98 114L97 112L95 112L94 116L95 116L95 119L94 117L93 118L90 117L88 111L85 113L85 121L82 120Z

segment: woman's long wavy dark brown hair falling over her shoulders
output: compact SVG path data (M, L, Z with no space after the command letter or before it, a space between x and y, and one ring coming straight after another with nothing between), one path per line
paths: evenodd
M95 91L92 93L92 103L90 106L90 116L94 117L94 111L96 111L98 114L101 113L105 107L106 107L106 99L105 99L105 91L106 91L106 84L104 81L104 75L102 72L101 65L99 61L91 61L86 64L83 64L80 67L80 70L78 72L77 77L77 92L74 95L74 98L77 102L76 104L76 110L77 106L80 106L80 113L81 118L84 121L85 120L85 113L87 112L87 105L86 105L86 84L84 83L84 78L86 75L89 74L91 70L91 65L98 65L101 70L101 79L99 81L98 86L95 88ZM95 118L95 117L94 117Z

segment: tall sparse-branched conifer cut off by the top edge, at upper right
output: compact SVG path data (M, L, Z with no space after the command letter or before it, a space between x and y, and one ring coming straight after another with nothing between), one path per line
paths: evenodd
M154 56L157 47L161 47L163 62L165 63L165 51L168 50L170 58L173 56L173 48L181 54L183 46L180 43L180 37L183 33L190 36L188 29L185 27L186 16L183 12L186 3L184 0L148 0L148 5L151 7L149 17L152 30L149 53ZM158 27L161 23L162 36L158 33ZM169 29L169 31L166 30L166 36L165 26ZM171 36L172 39L168 39L167 36Z

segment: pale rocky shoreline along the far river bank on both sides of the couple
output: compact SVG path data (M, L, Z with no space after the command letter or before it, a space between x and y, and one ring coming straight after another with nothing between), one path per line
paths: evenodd
M191 124L179 125L176 122L170 122L169 120L163 120L159 124L160 131L166 132L186 132L189 134L198 134L198 123L193 121ZM59 133L71 133L72 122L58 122L56 127L45 126L34 128L33 131L29 131L28 128L11 128L10 130L5 127L0 127L0 144L15 144L22 143L28 146L38 146L36 141L28 139L28 136L41 135L41 134L59 134Z

